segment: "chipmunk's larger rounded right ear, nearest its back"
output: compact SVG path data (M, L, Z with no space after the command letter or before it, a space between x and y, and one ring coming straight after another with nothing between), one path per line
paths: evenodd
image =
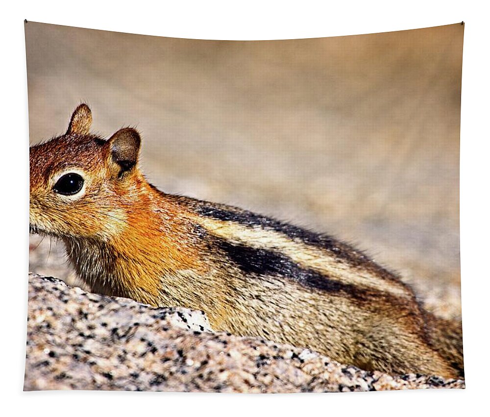
M140 153L140 134L131 127L118 130L108 141L110 148L110 161L117 164L119 173L130 171L138 162Z

